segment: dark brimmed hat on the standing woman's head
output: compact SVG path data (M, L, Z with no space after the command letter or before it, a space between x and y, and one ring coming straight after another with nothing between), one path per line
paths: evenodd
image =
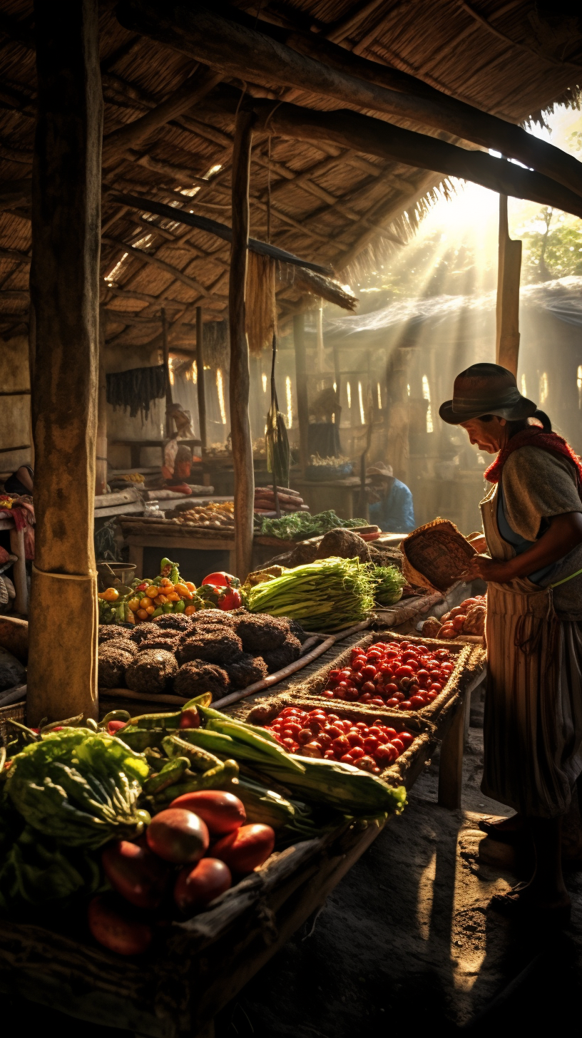
M471 364L457 375L453 399L446 400L439 408L443 421L458 426L483 414L518 420L529 418L537 405L518 389L515 376L500 364Z

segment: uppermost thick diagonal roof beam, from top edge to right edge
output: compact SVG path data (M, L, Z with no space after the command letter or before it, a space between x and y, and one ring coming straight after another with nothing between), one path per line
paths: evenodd
M573 156L520 127L441 94L426 84L421 86L421 81L415 82L422 95L395 89L394 80L383 85L394 70L325 44L320 35L289 32L267 22L260 23L263 31L258 31L240 24L240 12L233 10L238 21L231 21L184 0L122 0L116 13L127 28L205 61L226 76L246 80L250 73L266 86L291 86L399 119L413 119L518 159L582 196L581 164ZM256 19L253 22L257 25ZM399 74L401 83L403 75ZM383 83L379 84L377 80L382 77Z

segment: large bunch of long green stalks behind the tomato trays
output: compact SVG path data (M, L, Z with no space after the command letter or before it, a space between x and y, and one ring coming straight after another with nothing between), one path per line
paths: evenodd
M374 588L370 570L358 558L323 558L252 588L247 608L291 617L307 630L339 631L366 619Z

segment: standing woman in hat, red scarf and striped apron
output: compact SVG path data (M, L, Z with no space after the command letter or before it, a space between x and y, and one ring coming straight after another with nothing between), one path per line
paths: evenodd
M497 454L480 503L488 556L468 571L487 581L481 789L518 812L536 865L492 905L562 920L561 820L582 772L582 465L498 364L461 372L440 415Z

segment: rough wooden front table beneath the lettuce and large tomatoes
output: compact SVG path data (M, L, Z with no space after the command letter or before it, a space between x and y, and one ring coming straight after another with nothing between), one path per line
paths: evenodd
M202 1038L383 824L383 816L346 823L271 855L213 907L161 929L139 958L114 955L82 930L0 920L0 991L151 1038Z

